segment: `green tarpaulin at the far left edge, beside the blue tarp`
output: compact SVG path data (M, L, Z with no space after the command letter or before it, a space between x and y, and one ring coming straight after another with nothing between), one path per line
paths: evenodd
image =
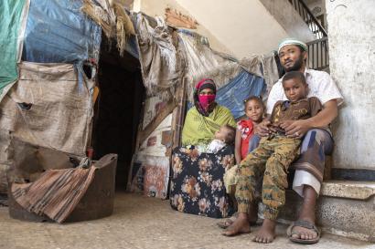
M0 1L0 101L6 86L18 77L16 62L18 60L19 32L22 28L22 16L27 7L26 0Z

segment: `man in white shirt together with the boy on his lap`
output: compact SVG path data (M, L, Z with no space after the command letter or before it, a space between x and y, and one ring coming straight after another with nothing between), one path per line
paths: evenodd
M301 147L301 155L295 161L293 189L304 198L299 218L289 227L288 235L290 240L296 243L313 244L319 240L320 233L315 225L316 198L323 181L325 155L329 154L333 147L332 135L328 126L338 116L338 105L343 102L343 98L338 87L326 72L306 68L306 51L305 43L291 38L285 39L279 46L280 62L287 72L286 77L289 80L281 78L273 85L267 100L267 113L273 114L272 119L265 119L256 127L256 133L264 137L261 141L261 149L253 151L241 161L242 182L239 182L236 188L239 216L223 233L225 235L250 233L248 217L252 212L249 211L249 203L252 202L254 191L253 178L259 173L264 173L263 202L267 208L264 213L263 226L253 241L258 243L273 241L275 236L274 221L279 208L284 204L284 189L287 186L284 184L286 172L297 155L295 146L283 147L283 151L276 149L279 148L278 144L286 140L297 147L300 144ZM290 78L288 72L292 71L299 71L305 77L303 79L295 76ZM300 93L294 99L296 88L305 89L305 93ZM316 98L310 100L311 97ZM314 102L314 105L307 104L312 109L297 109L301 115L309 112L308 117L290 116L291 111L296 113L293 109L295 103L302 100L305 104ZM320 105L319 101L323 108L317 112L316 107ZM273 143L275 137L278 138ZM269 146L270 144L273 144L272 148ZM269 150L267 155L263 155L264 148ZM259 158L262 158L262 162ZM273 159L271 160L273 162L267 161L268 159ZM244 182L245 180L247 183ZM265 187L267 190L264 189Z

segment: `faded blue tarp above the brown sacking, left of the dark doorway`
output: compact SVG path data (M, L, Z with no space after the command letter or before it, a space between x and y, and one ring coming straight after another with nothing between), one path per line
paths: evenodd
M82 1L33 0L27 16L23 60L43 63L96 62L102 29L80 12Z

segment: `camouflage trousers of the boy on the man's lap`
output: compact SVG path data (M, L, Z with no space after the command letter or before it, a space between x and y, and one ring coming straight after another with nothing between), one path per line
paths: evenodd
M298 156L300 143L301 140L287 138L284 135L264 137L259 147L241 161L235 192L239 212L249 212L250 203L254 199L256 179L264 174L264 218L277 218L279 208L285 203L285 188L288 187L287 170Z

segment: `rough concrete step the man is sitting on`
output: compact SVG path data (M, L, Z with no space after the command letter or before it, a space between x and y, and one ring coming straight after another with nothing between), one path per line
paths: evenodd
M279 222L295 221L302 201L294 191L287 190ZM323 182L316 223L327 233L375 242L375 182Z

